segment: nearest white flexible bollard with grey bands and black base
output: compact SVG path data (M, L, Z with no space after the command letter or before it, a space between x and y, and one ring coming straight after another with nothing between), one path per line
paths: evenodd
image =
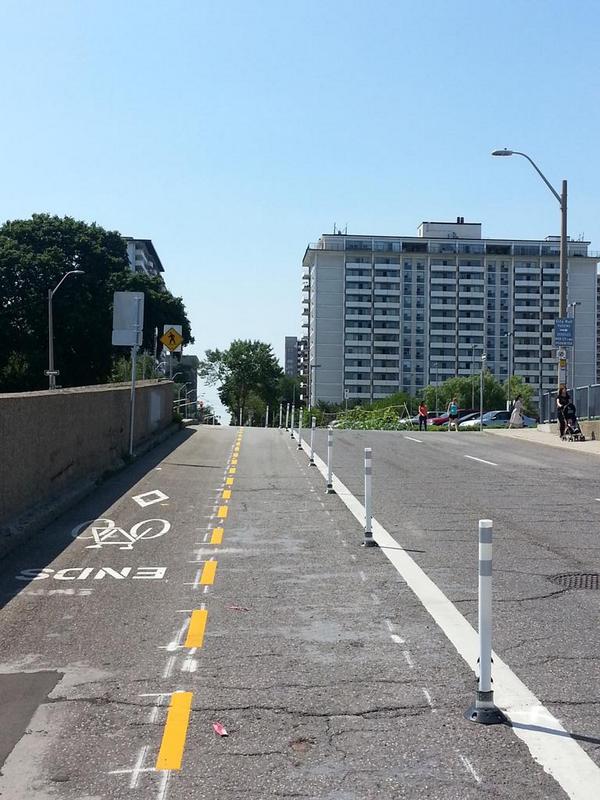
M492 520L479 520L479 686L475 705L465 713L471 722L499 725L508 720L494 705L492 690Z

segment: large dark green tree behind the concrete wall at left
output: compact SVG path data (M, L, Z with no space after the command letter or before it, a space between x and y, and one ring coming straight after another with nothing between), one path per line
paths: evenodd
M148 292L150 311L144 346L152 350L158 308L165 321L181 322L191 339L185 309L156 279L131 273L125 243L117 231L106 231L72 217L34 214L0 227L0 323L10 338L0 349L0 391L28 391L48 386L48 290L65 272L70 277L53 299L54 353L59 385L78 386L110 379L115 357L111 344L112 297L115 289ZM156 313L155 313L156 312ZM176 317L176 318L175 318Z

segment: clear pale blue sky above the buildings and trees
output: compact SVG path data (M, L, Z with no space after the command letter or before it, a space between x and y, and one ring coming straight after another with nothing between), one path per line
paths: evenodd
M0 218L151 238L196 344L301 332L332 231L422 220L600 250L600 6L590 0L3 0ZM214 390L207 393L214 399Z

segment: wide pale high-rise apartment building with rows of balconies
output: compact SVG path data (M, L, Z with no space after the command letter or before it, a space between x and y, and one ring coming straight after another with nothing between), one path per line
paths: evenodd
M577 306L577 385L596 380L598 258L569 241L568 301ZM486 354L535 396L556 388L558 237L482 239L480 223L423 222L417 236L324 234L303 259L309 392L371 400L455 375ZM510 358L509 358L510 353Z

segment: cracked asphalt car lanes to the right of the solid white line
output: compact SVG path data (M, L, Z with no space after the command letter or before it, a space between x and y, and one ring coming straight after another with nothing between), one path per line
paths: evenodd
M494 649L600 763L596 457L492 433L336 431L334 472L477 627L477 525L494 523ZM325 432L315 450L326 459Z

